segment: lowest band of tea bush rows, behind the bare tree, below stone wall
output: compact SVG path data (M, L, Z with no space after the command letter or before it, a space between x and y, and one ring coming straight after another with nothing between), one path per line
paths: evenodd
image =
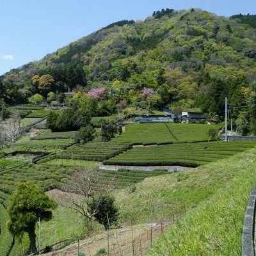
M59 161L60 159L57 159ZM26 182L31 180L37 186L49 190L52 188L63 188L68 183L70 175L76 172L76 170L83 170L86 168L95 168L97 163L83 161L83 165L72 164L68 161L63 164L54 163L55 160L45 161L40 163L23 164L16 168L9 168L6 170L0 170L0 204L4 203L8 196L13 193L15 186L18 182ZM167 170L154 170L154 171L138 171L138 170L97 170L94 169L97 175L98 172L103 173L102 179L99 180L101 184L109 184L109 181L113 182L116 188L123 188L131 186L141 182L147 177L168 174Z

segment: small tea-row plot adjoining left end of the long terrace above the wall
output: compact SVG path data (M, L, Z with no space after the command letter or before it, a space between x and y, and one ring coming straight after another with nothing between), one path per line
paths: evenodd
M103 161L110 157L121 154L130 148L128 144L99 142L73 145L56 155L59 159L77 159L87 161Z

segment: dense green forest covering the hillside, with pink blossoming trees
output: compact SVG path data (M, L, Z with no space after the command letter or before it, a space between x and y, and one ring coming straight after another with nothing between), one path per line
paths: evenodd
M97 99L95 115L168 107L218 121L228 97L229 106L251 106L230 115L244 134L255 133L254 20L197 9L121 20L4 74L0 95L7 104L51 102L82 90Z

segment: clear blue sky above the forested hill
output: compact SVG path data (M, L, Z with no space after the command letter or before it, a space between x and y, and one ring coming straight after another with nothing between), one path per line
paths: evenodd
M145 20L162 8L256 14L255 0L0 0L0 75L112 22Z

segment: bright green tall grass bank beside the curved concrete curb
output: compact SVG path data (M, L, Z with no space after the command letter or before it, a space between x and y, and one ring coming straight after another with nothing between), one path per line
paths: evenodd
M202 171L215 169L207 183L209 189L212 185L219 187L218 193L202 201L183 220L170 227L148 255L241 255L245 209L256 183L255 153L253 148L250 153L199 168ZM227 186L223 186L225 182ZM200 187L204 188L205 184Z

